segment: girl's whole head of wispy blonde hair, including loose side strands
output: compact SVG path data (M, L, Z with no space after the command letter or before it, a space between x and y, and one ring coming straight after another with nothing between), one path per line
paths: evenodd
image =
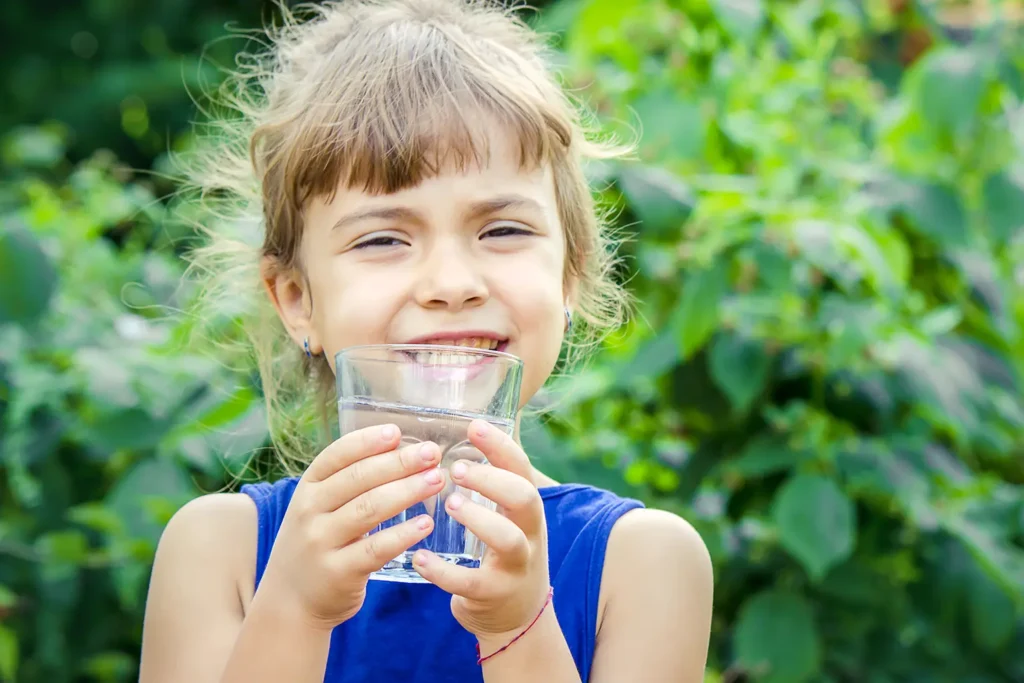
M588 185L588 160L625 148L589 134L546 67L542 38L512 9L470 0L353 0L281 7L268 44L240 60L219 98L233 116L215 121L187 165L193 187L217 219L190 253L200 305L242 303L270 433L296 472L323 445L311 436L333 415L333 374L307 359L262 291L261 262L301 268L303 209L339 185L391 193L445 165L485 162L481 120L518 140L522 167L550 165L573 292L566 359L582 357L625 319L613 242Z

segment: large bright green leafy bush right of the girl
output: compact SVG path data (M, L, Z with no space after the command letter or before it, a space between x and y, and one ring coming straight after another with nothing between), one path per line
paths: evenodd
M640 315L555 387L558 447L701 531L714 672L1020 680L1020 31L957 42L887 3L573 6L548 27L565 77L639 124L650 166L605 171ZM922 31L910 63L886 47Z

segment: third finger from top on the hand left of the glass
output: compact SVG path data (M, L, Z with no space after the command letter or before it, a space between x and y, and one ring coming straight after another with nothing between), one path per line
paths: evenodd
M444 475L434 467L371 488L331 513L335 538L345 543L360 537L399 512L436 496L443 487Z

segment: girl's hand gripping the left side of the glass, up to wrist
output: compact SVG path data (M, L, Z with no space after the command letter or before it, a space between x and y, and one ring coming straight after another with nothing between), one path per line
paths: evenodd
M333 629L362 606L370 574L425 539L421 515L364 538L381 522L438 494L440 450L395 450L394 425L353 431L325 449L303 473L285 513L257 598Z

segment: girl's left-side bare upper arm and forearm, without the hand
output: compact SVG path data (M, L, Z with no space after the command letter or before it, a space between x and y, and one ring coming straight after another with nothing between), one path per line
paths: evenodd
M146 600L140 683L323 681L330 631L302 624L242 578L256 566L256 508L217 494L179 510L160 540Z

